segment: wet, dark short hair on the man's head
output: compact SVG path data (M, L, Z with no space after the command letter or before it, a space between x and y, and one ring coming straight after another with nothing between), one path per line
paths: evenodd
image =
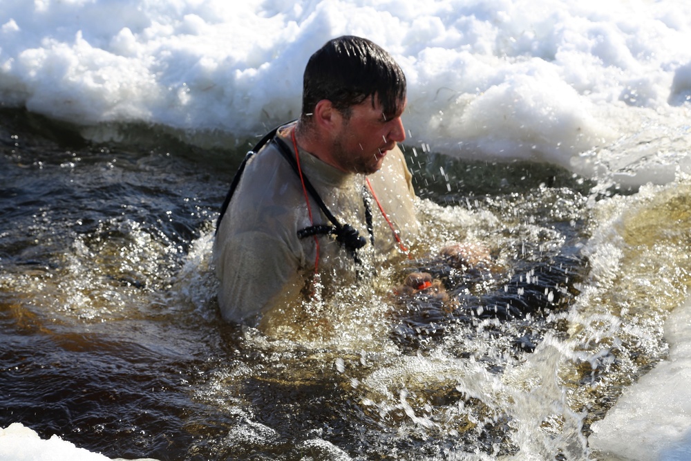
M384 115L393 117L406 98L406 76L383 48L368 39L344 35L316 50L305 67L301 119L316 103L329 100L350 117L350 108L377 95Z

